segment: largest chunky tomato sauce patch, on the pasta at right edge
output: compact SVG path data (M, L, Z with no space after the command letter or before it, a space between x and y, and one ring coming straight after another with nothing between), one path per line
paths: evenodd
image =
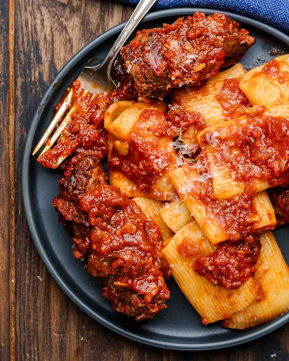
M213 145L216 161L231 167L236 180L250 183L253 178L260 178L272 187L286 185L289 183L289 122L283 117L266 116L264 107L259 110L229 126L224 139L221 129L204 133L201 144Z

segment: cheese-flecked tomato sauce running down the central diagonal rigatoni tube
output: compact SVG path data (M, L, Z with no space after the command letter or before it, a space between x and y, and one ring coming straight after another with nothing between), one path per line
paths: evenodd
M201 153L202 154L202 153ZM212 218L225 234L228 240L238 241L240 238L253 242L256 235L254 216L257 214L252 202L254 193L244 193L230 200L217 200L214 197L212 178L199 156L197 161L184 162L184 171L188 183L184 184L182 192L190 195L200 204L206 205L207 217Z

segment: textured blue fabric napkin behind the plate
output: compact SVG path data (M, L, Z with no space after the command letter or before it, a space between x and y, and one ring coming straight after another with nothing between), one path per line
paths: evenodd
M139 0L119 0L137 4ZM204 7L228 10L266 22L279 30L289 32L289 0L158 0L153 9Z

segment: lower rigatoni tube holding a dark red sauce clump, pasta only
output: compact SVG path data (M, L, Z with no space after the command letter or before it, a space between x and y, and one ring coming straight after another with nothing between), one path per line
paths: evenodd
M208 282L194 271L195 257L183 258L178 252L178 245L184 238L189 238L198 246L199 256L210 254L216 246L208 241L198 223L191 221L178 230L163 249L174 279L200 314L202 322L207 325L246 309L258 294L254 277L251 276L237 290L225 290L223 286Z

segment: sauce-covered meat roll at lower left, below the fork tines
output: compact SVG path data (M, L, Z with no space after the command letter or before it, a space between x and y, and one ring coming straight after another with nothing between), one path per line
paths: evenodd
M134 201L105 183L94 158L74 156L63 169L53 206L72 236L74 256L88 260L113 309L136 320L153 318L170 297L158 227Z

